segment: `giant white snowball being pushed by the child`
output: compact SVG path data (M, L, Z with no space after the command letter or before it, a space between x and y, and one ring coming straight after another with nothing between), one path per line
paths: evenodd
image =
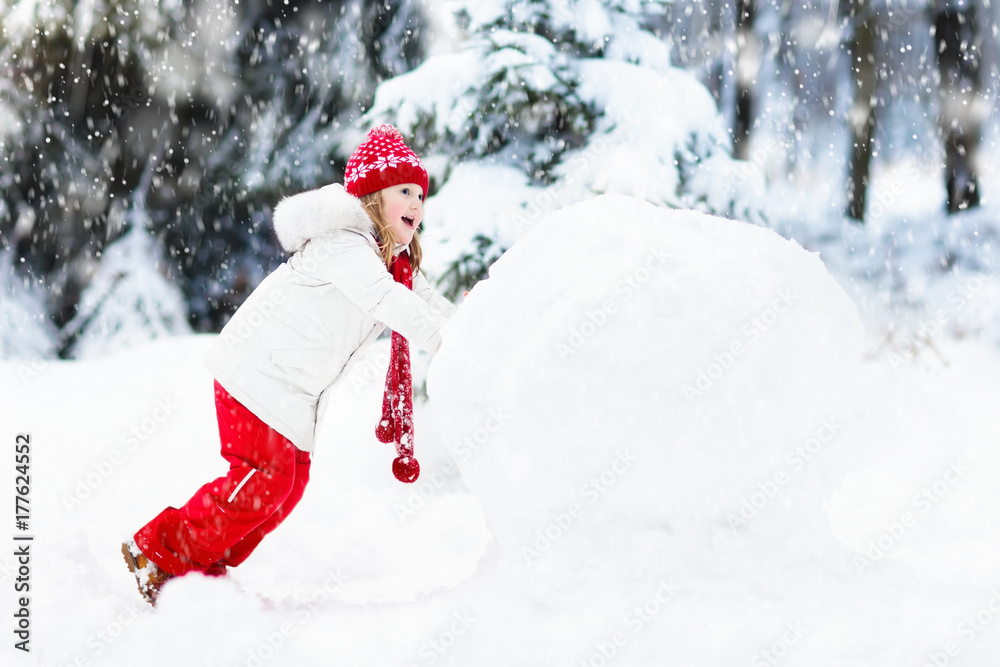
M777 525L818 548L861 335L795 242L607 195L538 222L491 267L428 390L508 558L681 525Z

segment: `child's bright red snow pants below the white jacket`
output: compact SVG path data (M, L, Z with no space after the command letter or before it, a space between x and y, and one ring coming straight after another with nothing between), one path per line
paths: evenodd
M309 452L262 422L218 382L215 410L229 472L135 534L142 553L169 574L212 574L239 565L295 508L309 482Z

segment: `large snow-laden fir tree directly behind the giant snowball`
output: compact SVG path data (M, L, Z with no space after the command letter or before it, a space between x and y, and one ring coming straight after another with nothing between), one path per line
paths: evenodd
M545 212L594 194L762 219L759 174L740 171L711 95L654 32L666 5L460 3L460 48L379 86L344 146L392 122L425 157L422 238L439 246L427 256L447 292Z

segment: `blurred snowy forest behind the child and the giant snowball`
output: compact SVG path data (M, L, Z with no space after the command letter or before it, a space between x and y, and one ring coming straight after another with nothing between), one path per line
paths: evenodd
M431 172L452 296L599 192L854 251L905 191L872 174L917 165L948 226L998 197L997 25L990 0L0 2L0 357L218 331L283 261L273 206L380 122ZM995 224L911 236L921 270L988 265Z

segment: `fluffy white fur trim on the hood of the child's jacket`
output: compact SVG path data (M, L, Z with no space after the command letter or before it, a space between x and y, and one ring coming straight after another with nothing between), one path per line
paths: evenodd
M340 183L307 190L282 199L272 217L278 243L286 252L298 252L312 239L342 229L375 235L375 225L361 200Z

